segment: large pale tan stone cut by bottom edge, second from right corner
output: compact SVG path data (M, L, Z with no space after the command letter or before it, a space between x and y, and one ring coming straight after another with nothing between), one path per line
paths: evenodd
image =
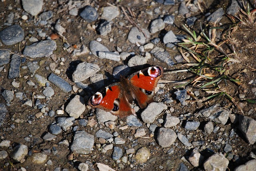
M228 159L221 153L215 153L204 161L204 169L206 171L218 170L226 171L228 168Z

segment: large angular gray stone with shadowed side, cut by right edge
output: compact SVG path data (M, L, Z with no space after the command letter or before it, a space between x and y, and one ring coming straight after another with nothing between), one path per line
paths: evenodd
M256 121L250 117L239 115L239 129L250 144L256 141Z

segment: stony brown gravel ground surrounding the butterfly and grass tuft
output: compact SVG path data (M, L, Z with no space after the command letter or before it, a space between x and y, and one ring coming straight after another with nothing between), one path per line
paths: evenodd
M0 170L255 170L256 106L248 101L256 98L254 5L2 0ZM190 36L182 24L196 33L218 27L218 50L232 59L226 74L242 82L219 84L233 100L204 100L202 89L170 83L194 76L175 72L193 58L177 46ZM211 55L217 64L220 54ZM88 105L120 75L155 65L164 76L154 102L132 104L137 116Z

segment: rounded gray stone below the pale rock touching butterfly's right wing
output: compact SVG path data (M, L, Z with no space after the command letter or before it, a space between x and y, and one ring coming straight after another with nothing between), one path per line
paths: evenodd
M176 133L170 128L160 128L158 130L157 141L161 147L170 147L176 138Z

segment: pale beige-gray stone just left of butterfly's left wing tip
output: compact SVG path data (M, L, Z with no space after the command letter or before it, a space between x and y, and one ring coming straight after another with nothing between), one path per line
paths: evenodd
M71 117L76 119L80 117L80 115L85 111L84 97L75 95L75 97L70 100L65 110Z

